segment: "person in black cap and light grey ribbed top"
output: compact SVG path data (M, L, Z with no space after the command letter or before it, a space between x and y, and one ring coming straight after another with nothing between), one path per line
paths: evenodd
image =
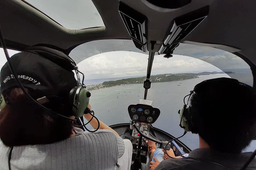
M7 63L1 70L6 105L0 111L0 169L130 169L129 140L101 121L94 133L75 128L70 121L75 106L69 95L78 86L72 64L42 49L38 52L15 54L11 62L29 95L38 102L47 99L41 104L48 110L23 93ZM84 117L92 118L90 123L97 128L95 118Z

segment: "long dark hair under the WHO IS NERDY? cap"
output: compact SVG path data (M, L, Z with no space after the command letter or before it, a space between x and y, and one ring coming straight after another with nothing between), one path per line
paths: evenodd
M4 145L47 144L71 135L71 121L35 105L20 88L6 90L3 95L8 102L0 112L0 138ZM70 111L58 103L47 107L66 115Z

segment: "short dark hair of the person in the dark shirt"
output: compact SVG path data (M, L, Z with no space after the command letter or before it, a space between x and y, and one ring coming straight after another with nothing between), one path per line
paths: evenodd
M239 153L255 138L256 92L245 84L207 87L190 99L193 123L209 146Z

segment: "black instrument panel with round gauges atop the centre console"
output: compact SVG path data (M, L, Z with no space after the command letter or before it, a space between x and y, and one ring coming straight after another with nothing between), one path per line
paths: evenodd
M160 115L160 110L149 105L130 105L128 112L131 120L135 122L155 123Z

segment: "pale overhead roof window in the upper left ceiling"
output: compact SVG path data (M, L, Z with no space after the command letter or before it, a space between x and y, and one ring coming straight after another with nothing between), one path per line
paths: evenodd
M105 27L97 8L91 0L26 0L26 2L67 29Z

